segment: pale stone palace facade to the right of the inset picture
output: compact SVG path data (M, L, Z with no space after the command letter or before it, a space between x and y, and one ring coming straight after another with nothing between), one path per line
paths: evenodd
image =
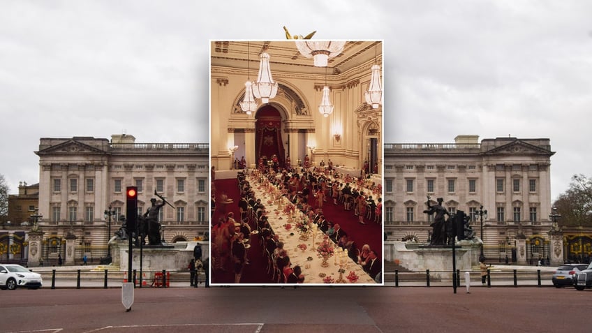
M530 263L553 257L549 139L459 135L454 143L385 145L385 259L393 241L427 242L431 216L443 198L448 212L471 216L489 261ZM480 214L487 210L487 216ZM481 223L481 217L483 221ZM556 244L556 260L563 260Z

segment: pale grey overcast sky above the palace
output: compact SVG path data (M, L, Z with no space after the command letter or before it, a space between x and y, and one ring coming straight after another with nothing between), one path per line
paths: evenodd
M387 143L550 138L555 199L592 176L591 15L578 0L4 0L0 174L10 193L38 182L45 137L207 142L208 41L286 25L385 41Z

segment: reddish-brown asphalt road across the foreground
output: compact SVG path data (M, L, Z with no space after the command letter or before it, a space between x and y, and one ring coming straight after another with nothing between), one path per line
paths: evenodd
M0 332L590 332L592 290L551 287L0 290Z

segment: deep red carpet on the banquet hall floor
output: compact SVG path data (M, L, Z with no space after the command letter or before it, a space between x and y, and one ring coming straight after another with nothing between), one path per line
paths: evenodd
M215 224L220 217L225 216L228 212L234 212L235 219L238 221L240 211L238 202L240 200L240 191L238 188L237 179L219 179L214 181L216 186L216 211L212 218L212 224ZM221 195L228 195L234 201L229 205L221 205ZM323 214L327 221L333 221L341 226L341 229L348 233L350 240L353 240L357 249L362 249L364 244L369 244L370 248L376 251L378 257L381 258L383 253L383 229L382 225L367 221L366 224L358 222L358 216L354 215L353 210L345 211L343 204L333 205L332 199L329 198L323 205ZM251 229L254 229L251 225ZM240 283L274 283L271 277L267 274L267 264L265 258L262 256L262 249L258 242L258 235L251 236L251 249L249 249L248 258L251 265L246 265L242 274ZM213 269L213 267L212 267ZM228 262L223 270L212 271L212 283L234 283L235 274L232 272L232 264Z

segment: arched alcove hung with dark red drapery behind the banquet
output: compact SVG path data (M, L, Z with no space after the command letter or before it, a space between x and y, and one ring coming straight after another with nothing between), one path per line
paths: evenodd
M286 153L281 138L281 114L272 105L260 108L255 115L255 161L262 158L264 163L276 155L279 166L283 167Z

